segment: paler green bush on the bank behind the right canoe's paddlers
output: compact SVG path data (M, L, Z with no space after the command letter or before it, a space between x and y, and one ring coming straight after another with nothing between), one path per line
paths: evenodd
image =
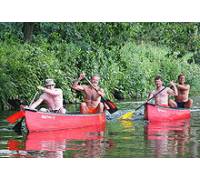
M198 71L200 66L195 63L188 63L192 54L188 53L183 57L169 55L170 49L166 47L156 47L151 44L127 43L121 49L120 64L124 76L120 80L121 87L129 95L137 97L146 95L150 89L154 88L154 77L161 75L165 85L171 80L177 81L178 75L183 72L192 90L199 89L197 80L200 78ZM129 97L127 96L127 98Z

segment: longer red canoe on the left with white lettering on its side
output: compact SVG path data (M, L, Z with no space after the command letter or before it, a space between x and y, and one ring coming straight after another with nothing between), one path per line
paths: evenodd
M105 113L55 114L25 110L25 122L29 132L74 129L89 126L105 126Z

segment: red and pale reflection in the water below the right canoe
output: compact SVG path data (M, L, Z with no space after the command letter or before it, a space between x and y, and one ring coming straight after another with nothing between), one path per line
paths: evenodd
M149 123L145 127L147 146L155 157L184 157L190 137L190 120Z

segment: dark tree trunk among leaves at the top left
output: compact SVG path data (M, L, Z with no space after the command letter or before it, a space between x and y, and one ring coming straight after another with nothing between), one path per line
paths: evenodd
M34 25L35 25L34 22L24 22L22 30L24 33L24 41L31 42Z

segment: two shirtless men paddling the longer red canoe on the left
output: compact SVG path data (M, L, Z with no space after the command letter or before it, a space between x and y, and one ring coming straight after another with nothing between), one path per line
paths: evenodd
M79 78L72 84L72 89L80 91L84 95L84 102L80 105L80 112L83 114L87 113L98 113L103 112L105 108L109 108L101 102L104 90L99 87L100 76L94 75L91 78L89 85L81 85L80 81L85 78L85 73L81 73ZM55 88L53 79L46 79L45 87L38 86L39 90L43 93L39 99L29 106L30 109L37 108L42 102L46 102L48 109L41 108L43 112L54 112L54 113L66 113L66 109L63 107L63 91L60 88Z

